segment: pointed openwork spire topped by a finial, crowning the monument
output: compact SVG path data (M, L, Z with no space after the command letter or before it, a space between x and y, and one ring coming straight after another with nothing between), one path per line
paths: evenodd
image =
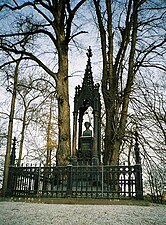
M87 49L88 52L86 55L88 56L88 61L85 69L85 74L83 78L83 84L82 87L89 87L90 90L94 87L93 77L92 77L92 67L91 67L91 57L92 57L92 50L89 46L89 49Z

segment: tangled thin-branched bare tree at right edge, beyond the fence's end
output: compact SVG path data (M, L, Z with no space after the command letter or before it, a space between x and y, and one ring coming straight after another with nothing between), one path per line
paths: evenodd
M135 86L131 120L139 129L146 184L153 200L161 201L166 183L165 74L158 79L151 73L146 73L146 77L141 74Z

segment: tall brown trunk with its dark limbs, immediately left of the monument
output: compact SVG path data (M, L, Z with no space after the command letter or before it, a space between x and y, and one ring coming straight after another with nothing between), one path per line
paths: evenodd
M73 20L78 13L79 8L85 3L86 0L80 0L72 2L69 0L61 1L30 1L27 4L18 3L11 6L10 4L2 4L0 11L3 8L7 8L12 11L24 10L26 7L30 7L32 12L39 16L40 24L36 26L36 21L28 20L30 27L25 29L18 28L14 33L14 36L20 37L19 42L13 43L12 34L4 35L4 39L11 37L11 45L5 44L6 41L2 41L1 48L4 51L13 52L16 54L23 54L26 59L35 61L41 68L43 68L51 77L56 81L56 91L58 100L58 126L59 126L59 143L57 151L57 160L59 164L67 164L70 157L70 107L69 107L69 93L68 93L68 46L69 42L77 35L81 34L82 31L75 32L72 30ZM23 11L24 13L24 11ZM34 23L33 23L34 22ZM26 21L25 21L26 23ZM22 23L21 23L22 24ZM21 25L22 26L22 25ZM21 27L20 26L20 27ZM34 27L33 27L34 26ZM74 25L75 26L75 25ZM31 28L35 29L31 29ZM29 30L27 30L29 29ZM8 32L7 32L8 33ZM13 32L12 32L13 33ZM45 64L38 54L31 52L28 47L29 37L41 35L45 37L50 43L52 52L58 57L58 63L55 67L58 68L58 72L54 72L49 67L52 65ZM38 36L39 37L39 36ZM2 38L2 37L1 37ZM3 40L3 38L2 38ZM34 41L37 41L35 38ZM8 42L7 42L8 43ZM12 44L13 43L13 44ZM25 43L23 48L22 43ZM18 45L21 45L21 48ZM38 44L38 43L37 43ZM17 48L18 47L18 48ZM45 47L44 47L45 50ZM47 51L46 51L47 52ZM45 53L46 53L45 52ZM36 52L37 53L37 52ZM49 54L49 52L48 52Z

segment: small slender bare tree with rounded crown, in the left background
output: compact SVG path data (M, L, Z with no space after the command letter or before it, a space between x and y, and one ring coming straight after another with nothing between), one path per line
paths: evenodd
M19 157L17 161L18 166L20 166L22 160L25 131L26 129L28 129L28 126L31 127L30 125L31 121L34 120L34 114L37 114L39 108L44 104L46 99L49 97L52 87L52 85L50 85L50 83L46 79L44 79L44 77L33 78L34 74L28 77L27 73L29 73L29 70L26 72L25 75L26 78L23 78L22 80L20 79L18 81L17 87L18 92L17 107L18 113L21 115L18 115L18 113L16 113L16 117L17 120L21 120L22 123L21 124L22 128L20 131L21 133L20 133ZM33 73L36 72L33 71Z

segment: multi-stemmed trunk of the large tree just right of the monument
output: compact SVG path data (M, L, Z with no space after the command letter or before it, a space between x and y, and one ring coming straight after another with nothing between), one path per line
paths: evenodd
M112 4L105 0L107 27L100 7L100 2L94 0L98 25L101 36L103 56L102 93L106 111L104 164L118 165L120 147L125 134L129 98L135 78L134 56L137 36L138 0L129 0L125 27L119 27L121 41L117 54L114 54L114 32L112 27ZM131 32L132 31L132 32ZM107 40L107 41L106 41ZM106 45L106 43L108 43ZM130 52L127 49L130 48ZM126 86L122 87L123 65L126 63L125 54L128 53L128 73Z

